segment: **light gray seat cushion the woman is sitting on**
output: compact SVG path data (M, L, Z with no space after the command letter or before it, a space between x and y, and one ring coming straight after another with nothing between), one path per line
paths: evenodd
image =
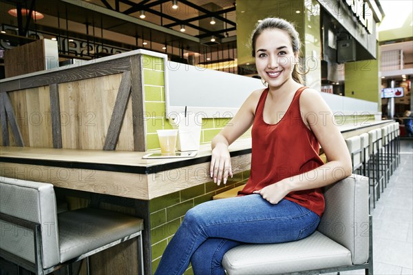
M240 245L222 259L231 275L284 274L351 264L350 250L318 231L290 243Z

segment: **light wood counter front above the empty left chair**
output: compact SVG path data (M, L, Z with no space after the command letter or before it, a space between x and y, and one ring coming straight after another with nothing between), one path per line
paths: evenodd
M147 175L143 174L0 162L0 176L97 194L148 199Z

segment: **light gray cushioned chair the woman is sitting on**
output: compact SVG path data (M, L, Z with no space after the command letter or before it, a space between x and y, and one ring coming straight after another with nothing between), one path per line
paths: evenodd
M235 247L222 260L227 274L321 274L352 269L373 274L368 185L368 178L353 174L324 187L326 211L317 231L290 243Z

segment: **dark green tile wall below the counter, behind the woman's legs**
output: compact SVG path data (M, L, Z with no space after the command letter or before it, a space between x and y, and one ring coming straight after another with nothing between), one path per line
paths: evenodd
M200 203L211 201L215 194L219 194L238 185L246 183L249 172L233 175L226 185L218 186L213 181L202 183L180 192L174 192L149 201L150 223L151 223L151 251L152 271L158 267L160 257L176 233L185 213ZM193 274L191 267L185 274Z

